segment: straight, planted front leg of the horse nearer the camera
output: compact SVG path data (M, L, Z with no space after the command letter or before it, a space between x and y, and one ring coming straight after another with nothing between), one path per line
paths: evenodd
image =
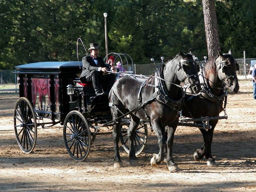
M180 168L172 158L172 147L173 147L175 130L176 128L174 128L173 126L168 127L166 164L168 166L168 169L172 172L180 170Z

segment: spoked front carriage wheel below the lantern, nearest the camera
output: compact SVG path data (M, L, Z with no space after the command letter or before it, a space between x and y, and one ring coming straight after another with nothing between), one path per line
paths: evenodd
M65 118L63 136L68 154L76 161L84 161L91 146L91 132L84 115L71 111Z

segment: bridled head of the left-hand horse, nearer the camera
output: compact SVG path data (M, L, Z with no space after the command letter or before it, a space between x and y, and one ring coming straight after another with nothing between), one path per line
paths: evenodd
M177 69L177 78L185 85L189 85L191 92L196 94L200 92L201 86L198 78L199 66L194 61L190 53L183 54L181 51L177 54L179 62Z

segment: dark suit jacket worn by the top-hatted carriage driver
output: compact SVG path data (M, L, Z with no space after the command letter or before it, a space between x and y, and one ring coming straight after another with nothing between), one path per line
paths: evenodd
M97 71L99 67L107 67L102 57L98 56L96 59L98 60L97 65L90 55L82 58L83 70L79 79L85 78L92 70Z

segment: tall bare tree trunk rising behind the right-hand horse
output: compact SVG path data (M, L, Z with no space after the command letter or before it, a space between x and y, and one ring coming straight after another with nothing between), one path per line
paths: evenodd
M208 58L214 56L220 50L218 24L214 0L202 0L204 11L204 28L208 49Z

